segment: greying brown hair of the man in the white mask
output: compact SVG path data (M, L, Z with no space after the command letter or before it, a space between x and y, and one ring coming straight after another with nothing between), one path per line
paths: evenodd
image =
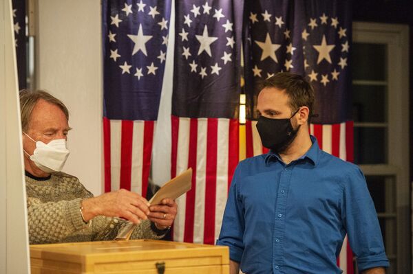
M69 121L69 111L61 100L55 98L53 95L47 91L37 90L30 91L29 89L23 89L20 91L20 113L21 113L21 128L23 131L28 130L30 119L32 117L32 112L34 106L36 106L37 101L40 99L45 100L51 104L59 106L59 109L65 113L67 121Z

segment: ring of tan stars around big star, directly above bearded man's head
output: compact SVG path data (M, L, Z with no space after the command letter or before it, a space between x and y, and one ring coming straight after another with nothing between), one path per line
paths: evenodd
M268 12L260 8L262 7L254 6L248 16L253 77L260 80L270 78L280 71L300 71L302 57L297 49L301 47L301 41L293 36L292 27L282 14L283 10L277 8L279 12L275 13L275 9Z

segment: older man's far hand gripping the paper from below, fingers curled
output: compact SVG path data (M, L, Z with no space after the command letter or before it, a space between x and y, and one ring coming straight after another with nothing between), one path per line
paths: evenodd
M178 205L171 198L165 198L159 205L149 207L151 213L148 214L149 220L155 223L160 230L170 227L175 220Z

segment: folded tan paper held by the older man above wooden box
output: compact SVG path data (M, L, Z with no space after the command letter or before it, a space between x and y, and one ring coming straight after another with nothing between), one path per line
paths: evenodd
M151 203L151 205L158 205L164 198L171 198L175 200L182 194L191 190L191 186L192 168L189 168L160 187L151 200L149 200L149 203ZM118 232L118 236L116 236L115 240L129 240L135 227L136 224L129 222L125 225L125 227L123 227L122 230Z

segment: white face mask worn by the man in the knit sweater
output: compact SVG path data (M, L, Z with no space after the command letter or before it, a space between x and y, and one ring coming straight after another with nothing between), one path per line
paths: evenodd
M34 141L29 135L25 135ZM30 160L44 172L61 171L70 154L67 149L67 141L65 139L55 139L50 141L49 144L45 144L43 141L34 142L36 143L36 149L33 155L29 155L28 152L23 150L30 157Z

